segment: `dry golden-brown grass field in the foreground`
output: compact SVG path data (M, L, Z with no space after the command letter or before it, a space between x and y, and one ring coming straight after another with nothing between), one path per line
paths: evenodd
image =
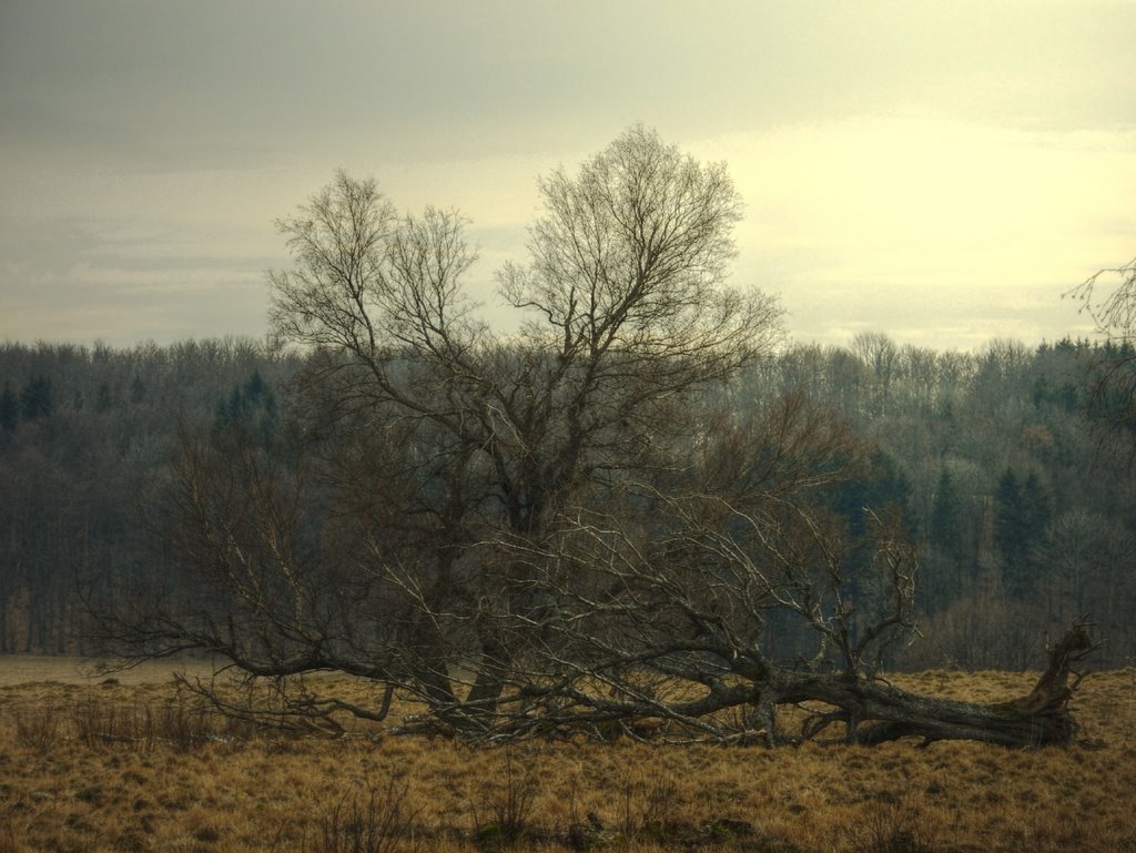
M1033 677L897 680L999 701ZM168 668L108 679L5 657L0 853L1136 851L1136 670L1091 675L1075 708L1069 750L470 749L377 728L266 736L197 713Z

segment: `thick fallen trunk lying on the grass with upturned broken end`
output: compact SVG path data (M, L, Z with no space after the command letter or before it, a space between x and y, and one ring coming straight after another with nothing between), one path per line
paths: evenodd
M1050 650L1049 666L1028 695L993 704L921 696L852 672L808 672L768 662L737 668L737 680L715 679L709 692L668 702L665 692L652 694L641 689L635 678L619 680L608 671L600 678L605 686L601 691L588 689L586 680L551 687L544 694L529 691L529 699L548 700L542 710L534 714L532 704L520 703L515 713L502 713L487 734L524 738L541 733L603 736L618 730L637 737L650 730L651 737L676 742L693 738L774 746L819 738L838 724L846 743L863 745L904 737L922 738L921 746L935 741L1069 745L1077 725L1068 705L1080 680L1072 667L1096 647L1086 626L1074 626ZM827 708L809 709L810 717L799 733L778 730L778 706L802 703ZM744 720L741 726L738 719Z

